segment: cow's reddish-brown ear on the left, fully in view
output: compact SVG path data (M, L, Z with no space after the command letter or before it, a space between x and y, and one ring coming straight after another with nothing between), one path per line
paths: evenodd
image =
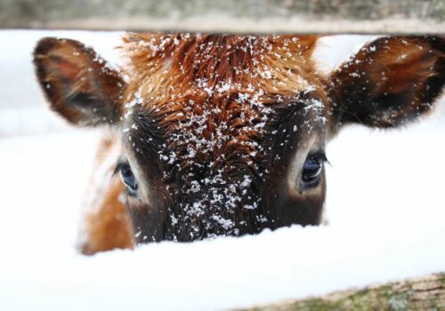
M71 124L117 123L125 82L91 48L46 37L34 51L36 76L51 108Z

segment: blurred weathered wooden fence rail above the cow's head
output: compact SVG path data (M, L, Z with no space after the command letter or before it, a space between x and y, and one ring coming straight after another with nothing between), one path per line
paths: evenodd
M0 28L444 33L445 0L0 0Z

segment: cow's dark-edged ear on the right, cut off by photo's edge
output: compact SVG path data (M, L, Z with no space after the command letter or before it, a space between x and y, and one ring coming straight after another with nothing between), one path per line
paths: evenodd
M445 84L445 38L382 37L329 78L331 122L395 127L433 107Z

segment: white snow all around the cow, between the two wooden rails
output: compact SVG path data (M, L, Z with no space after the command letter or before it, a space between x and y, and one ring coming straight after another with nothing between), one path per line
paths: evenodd
M46 108L31 58L43 36L119 56L121 33L0 31L0 309L225 309L445 271L443 104L400 131L340 132L328 146L326 227L78 255L99 133ZM324 38L320 70L370 38Z

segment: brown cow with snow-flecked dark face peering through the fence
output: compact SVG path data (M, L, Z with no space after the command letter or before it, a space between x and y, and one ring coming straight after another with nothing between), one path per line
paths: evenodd
M445 83L441 36L377 38L326 75L319 38L132 33L122 68L77 41L40 40L51 108L104 132L80 250L319 225L327 142L347 124L409 124Z

